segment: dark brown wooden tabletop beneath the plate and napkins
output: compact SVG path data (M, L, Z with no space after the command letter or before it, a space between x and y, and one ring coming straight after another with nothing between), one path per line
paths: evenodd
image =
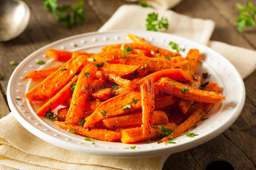
M42 1L26 0L25 2L31 9L28 28L16 39L0 42L0 74L4 76L3 80L0 80L1 117L6 116L10 111L6 100L6 88L9 77L15 69L15 66L9 65L10 61L14 60L19 63L36 49L64 37L97 31L119 6L128 3L121 0L86 0L85 21L67 30L43 9ZM68 2L68 0L64 2ZM238 0L184 0L173 10L193 18L214 20L216 28L211 40L255 50L255 27L240 33L234 26L238 15L237 2ZM245 4L246 1L239 2ZM256 5L256 0L252 2ZM256 71L248 76L244 82L246 88L245 107L237 121L212 141L187 151L172 154L167 159L163 169L204 169L214 160L225 160L232 164L235 169L255 169Z

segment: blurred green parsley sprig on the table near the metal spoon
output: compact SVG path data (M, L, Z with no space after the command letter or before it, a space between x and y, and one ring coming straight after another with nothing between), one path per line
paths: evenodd
M84 20L84 0L77 0L74 5L58 6L57 0L44 0L43 7L55 15L57 21L64 23L66 28L71 28L77 20Z

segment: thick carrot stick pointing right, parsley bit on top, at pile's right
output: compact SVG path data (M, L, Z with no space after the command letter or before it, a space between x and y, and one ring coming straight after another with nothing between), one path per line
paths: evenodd
M225 96L217 92L200 90L168 78L162 78L156 82L156 86L162 86L164 92L189 101L204 103L219 103L225 100Z

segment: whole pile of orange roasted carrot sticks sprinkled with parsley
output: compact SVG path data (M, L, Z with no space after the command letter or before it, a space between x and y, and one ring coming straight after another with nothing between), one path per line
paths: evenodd
M27 92L45 101L36 111L71 133L109 142L164 142L193 128L225 100L217 83L195 74L200 53L187 57L127 35L133 43L115 44L99 53L48 49L63 65L32 71L42 80ZM59 105L65 106L53 113Z

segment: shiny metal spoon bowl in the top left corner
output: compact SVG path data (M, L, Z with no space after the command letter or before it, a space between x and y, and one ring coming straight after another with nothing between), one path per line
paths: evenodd
M0 41L19 36L27 28L30 8L20 0L0 1Z

